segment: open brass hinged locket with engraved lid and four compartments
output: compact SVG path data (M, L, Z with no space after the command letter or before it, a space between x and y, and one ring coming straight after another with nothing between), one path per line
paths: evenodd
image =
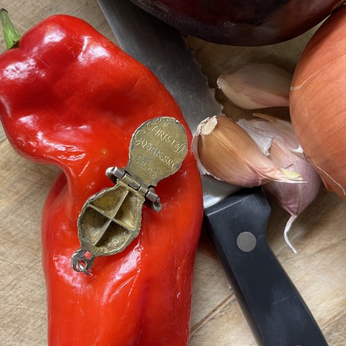
M119 253L137 237L143 203L161 210L154 187L179 170L187 152L185 129L174 118L154 118L136 129L127 166L106 171L116 185L93 194L80 212L81 248L72 256L75 271L91 275L95 257Z

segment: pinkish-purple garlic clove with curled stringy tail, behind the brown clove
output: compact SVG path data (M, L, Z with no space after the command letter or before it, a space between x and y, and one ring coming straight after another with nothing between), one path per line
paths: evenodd
M254 138L256 136L270 138L271 144L267 146L268 143L266 143L266 146L263 147L263 151L268 153L268 158L280 167L298 172L306 181L304 184L294 185L271 181L262 186L268 199L277 203L291 215L284 229L284 239L296 253L297 251L289 241L288 233L293 221L315 199L320 187L320 176L304 158L291 123L264 114L257 114L257 116L267 121L262 119L239 120L239 125L249 131ZM264 142L264 140L257 141L259 145Z

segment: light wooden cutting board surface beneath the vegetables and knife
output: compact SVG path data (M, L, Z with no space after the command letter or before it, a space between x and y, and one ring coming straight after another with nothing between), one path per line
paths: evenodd
M115 0L116 1L116 0ZM21 33L49 15L75 15L115 39L94 0L4 0ZM195 51L211 88L219 74L244 62L273 62L293 71L312 31L284 44L235 48L192 37ZM1 41L1 51L5 50ZM216 98L235 120L249 116ZM267 113L288 118L287 109ZM41 267L41 212L57 176L56 167L36 165L19 157L0 131L0 345L46 345L46 289ZM329 345L346 345L346 204L320 188L314 201L291 230L295 255L283 238L289 215L277 206L268 222L268 241L298 287ZM255 345L255 340L226 280L208 237L202 230L194 271L192 346Z

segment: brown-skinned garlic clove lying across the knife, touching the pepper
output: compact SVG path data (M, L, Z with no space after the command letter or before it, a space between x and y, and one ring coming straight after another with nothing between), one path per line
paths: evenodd
M234 185L302 182L300 174L280 168L266 157L246 131L227 116L203 120L192 140L192 150L202 174Z

